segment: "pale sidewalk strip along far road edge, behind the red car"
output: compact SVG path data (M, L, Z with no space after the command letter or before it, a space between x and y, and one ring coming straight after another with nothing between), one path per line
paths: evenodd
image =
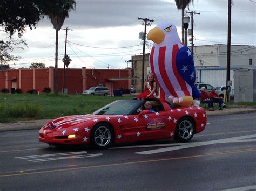
M220 116L231 114L243 114L256 112L256 108L225 108L223 111L207 111L207 116ZM0 131L16 131L16 130L29 130L40 129L43 125L51 121L51 119L41 119L32 121L21 121L17 123L0 123Z

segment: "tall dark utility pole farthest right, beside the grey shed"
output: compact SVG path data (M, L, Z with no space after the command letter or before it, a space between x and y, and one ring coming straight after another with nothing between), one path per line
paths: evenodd
M228 19L227 19L227 80L226 80L226 89L227 89L227 102L230 101L230 51L231 51L231 1L228 0Z

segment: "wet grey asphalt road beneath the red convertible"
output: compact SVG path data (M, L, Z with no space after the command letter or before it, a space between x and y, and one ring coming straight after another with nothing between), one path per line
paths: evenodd
M189 143L48 146L0 133L0 190L255 190L256 115L210 116Z

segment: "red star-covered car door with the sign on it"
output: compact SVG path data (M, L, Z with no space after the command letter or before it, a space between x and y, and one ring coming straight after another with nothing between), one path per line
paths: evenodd
M168 111L149 112L143 110L140 114L131 115L131 139L146 140L166 137L166 121Z

